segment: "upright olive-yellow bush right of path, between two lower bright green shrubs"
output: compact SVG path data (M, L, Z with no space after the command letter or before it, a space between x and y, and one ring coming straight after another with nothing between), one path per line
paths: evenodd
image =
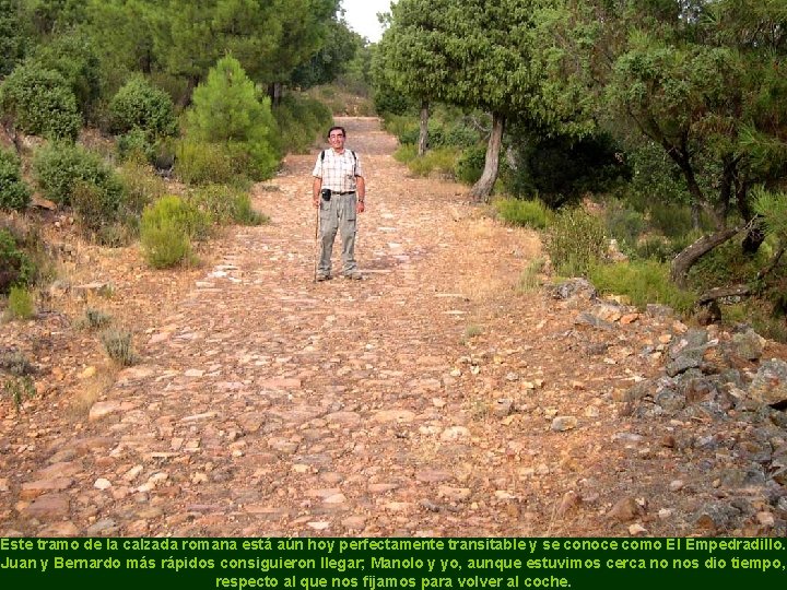
M587 276L607 250L603 224L577 206L557 212L545 244L552 266L562 276Z

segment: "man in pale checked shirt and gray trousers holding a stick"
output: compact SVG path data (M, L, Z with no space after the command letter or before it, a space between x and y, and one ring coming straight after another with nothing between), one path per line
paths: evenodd
M345 138L343 127L330 128L330 150L320 152L312 173L312 201L319 208L320 221L317 281L331 278L331 252L337 232L342 241L342 275L345 279L363 279L355 262L355 221L356 214L364 212L366 185L357 154L344 149Z

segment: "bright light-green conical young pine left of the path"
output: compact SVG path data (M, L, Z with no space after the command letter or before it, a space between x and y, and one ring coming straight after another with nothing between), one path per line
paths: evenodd
M279 165L270 101L257 98L254 83L232 57L219 60L197 87L187 121L189 140L224 145L235 170L254 180L270 178Z

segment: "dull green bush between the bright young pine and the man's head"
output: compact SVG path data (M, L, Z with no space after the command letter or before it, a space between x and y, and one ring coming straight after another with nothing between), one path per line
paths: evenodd
M279 153L308 153L317 137L332 122L330 109L305 94L287 94L273 110L279 128Z

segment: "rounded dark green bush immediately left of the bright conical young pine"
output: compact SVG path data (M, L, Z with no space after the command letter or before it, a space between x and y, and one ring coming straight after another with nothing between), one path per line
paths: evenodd
M164 91L144 78L129 80L109 102L111 129L116 133L144 132L149 142L178 132L175 106Z

